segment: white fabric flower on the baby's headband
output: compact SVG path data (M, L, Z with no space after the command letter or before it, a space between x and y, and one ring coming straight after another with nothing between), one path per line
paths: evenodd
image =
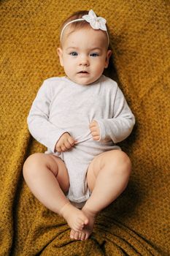
M90 26L93 29L101 29L101 30L107 31L107 26L106 26L107 20L105 20L102 17L97 17L96 13L93 12L93 10L90 10L88 12L88 15L83 15L82 18L86 20L88 23L90 23Z

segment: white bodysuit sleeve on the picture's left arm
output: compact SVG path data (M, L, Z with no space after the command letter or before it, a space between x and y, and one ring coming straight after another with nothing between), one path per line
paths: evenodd
M56 127L49 121L51 100L50 83L47 83L45 80L36 94L36 98L28 114L27 122L31 135L39 143L42 143L54 152L55 144L66 131Z

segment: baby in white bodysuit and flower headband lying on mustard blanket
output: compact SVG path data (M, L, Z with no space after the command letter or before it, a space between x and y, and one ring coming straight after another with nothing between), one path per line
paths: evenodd
M44 153L26 159L23 176L36 198L60 214L70 237L86 240L96 215L125 189L131 161L115 143L130 135L134 115L109 65L106 20L80 11L62 26L58 56L64 77L44 81L28 115L28 128Z

